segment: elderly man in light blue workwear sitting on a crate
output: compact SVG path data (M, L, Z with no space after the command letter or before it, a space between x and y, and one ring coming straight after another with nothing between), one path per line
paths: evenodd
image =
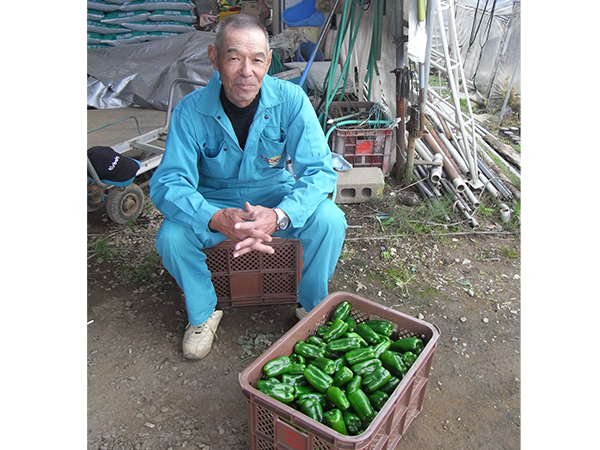
M203 248L230 238L237 257L273 253L271 236L298 239L300 318L327 296L346 229L328 198L337 175L314 109L299 86L267 75L271 50L262 24L227 16L208 55L217 72L174 109L150 181L165 216L156 248L186 299L189 359L208 354L223 316ZM295 176L286 170L287 155Z

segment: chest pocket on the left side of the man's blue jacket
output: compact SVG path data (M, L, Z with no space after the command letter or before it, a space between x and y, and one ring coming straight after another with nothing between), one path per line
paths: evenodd
M209 178L227 179L237 176L242 155L226 141L206 139L200 144L199 172Z

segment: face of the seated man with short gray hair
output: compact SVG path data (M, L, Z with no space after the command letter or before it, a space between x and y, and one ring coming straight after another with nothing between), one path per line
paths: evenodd
M231 103L244 108L252 103L271 64L265 34L260 30L226 30L223 50L217 55L209 45L208 56L219 71L225 95Z

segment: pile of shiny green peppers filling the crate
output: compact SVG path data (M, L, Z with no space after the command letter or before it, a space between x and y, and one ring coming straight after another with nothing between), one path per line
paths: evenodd
M263 367L257 388L338 433L355 436L373 421L423 350L419 337L392 340L387 320L356 323L344 301L317 334Z

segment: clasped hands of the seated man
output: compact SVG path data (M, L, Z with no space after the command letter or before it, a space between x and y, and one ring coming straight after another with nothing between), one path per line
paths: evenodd
M271 208L246 202L244 209L220 209L212 216L208 226L236 242L234 258L252 250L269 254L275 252L268 245L273 240L271 234L277 229L277 215Z

